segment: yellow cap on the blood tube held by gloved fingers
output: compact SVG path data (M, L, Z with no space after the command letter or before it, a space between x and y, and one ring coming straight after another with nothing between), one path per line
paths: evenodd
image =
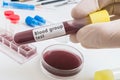
M89 14L89 17L91 19L91 23L100 23L100 22L109 22L110 16L107 10L101 10L98 12L94 12Z

